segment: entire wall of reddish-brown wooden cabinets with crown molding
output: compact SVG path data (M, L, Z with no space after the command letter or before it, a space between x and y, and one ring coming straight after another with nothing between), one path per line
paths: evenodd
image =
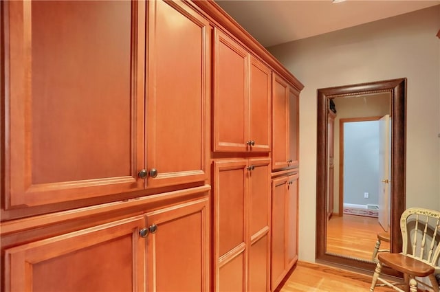
M0 290L276 289L303 85L214 1L0 5Z

